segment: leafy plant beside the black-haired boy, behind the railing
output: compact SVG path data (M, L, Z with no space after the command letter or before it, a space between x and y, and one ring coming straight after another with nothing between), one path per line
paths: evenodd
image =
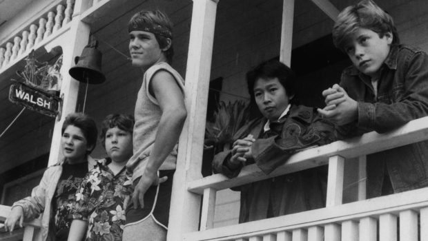
M207 122L205 145L213 146L215 153L229 149L238 129L249 121L249 106L244 101L221 101L214 113L214 121Z

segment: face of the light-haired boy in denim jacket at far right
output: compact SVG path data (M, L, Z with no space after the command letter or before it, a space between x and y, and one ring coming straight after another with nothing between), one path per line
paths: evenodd
M393 36L387 32L379 36L367 28L358 28L351 36L351 41L345 47L345 50L360 72L368 76L376 76L380 67L389 54Z

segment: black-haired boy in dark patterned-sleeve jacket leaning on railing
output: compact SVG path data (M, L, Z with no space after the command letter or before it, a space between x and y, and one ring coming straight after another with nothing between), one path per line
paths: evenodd
M264 117L242 127L233 149L215 156L216 172L233 178L245 165L256 163L269 174L295 152L333 140L331 123L312 107L295 105L295 76L289 67L279 61L262 63L247 74L247 82L251 98ZM324 207L326 187L326 167L239 187L240 222Z

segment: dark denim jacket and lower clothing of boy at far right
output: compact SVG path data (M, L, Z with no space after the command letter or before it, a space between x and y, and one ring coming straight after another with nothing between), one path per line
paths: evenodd
M381 67L378 94L356 67L342 73L340 85L358 102L358 121L339 126L339 138L384 133L428 114L428 56L406 45L392 45ZM367 196L380 196L388 172L395 192L428 185L428 141L367 156ZM385 163L383 163L385 162Z

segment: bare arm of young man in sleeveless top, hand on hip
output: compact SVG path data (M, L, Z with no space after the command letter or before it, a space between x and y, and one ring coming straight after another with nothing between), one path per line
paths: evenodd
M149 90L155 95L162 110L162 116L146 169L135 186L134 207L137 207L137 202L144 207L144 193L147 189L151 185L158 185L159 182L166 180L166 177L159 180L157 170L177 144L187 116L182 90L169 72L162 70L156 72L150 81Z

